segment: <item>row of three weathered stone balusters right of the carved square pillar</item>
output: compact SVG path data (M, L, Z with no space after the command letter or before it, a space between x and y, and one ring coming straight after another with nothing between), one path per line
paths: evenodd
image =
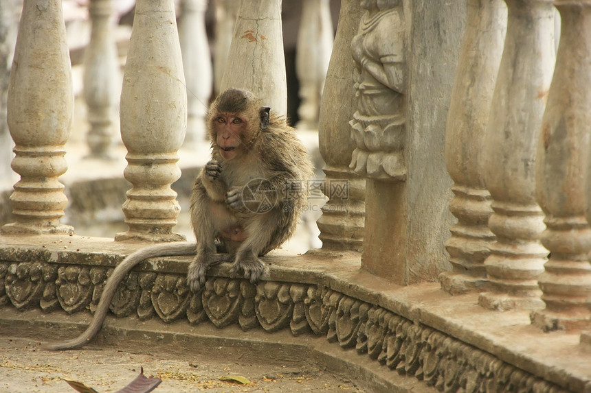
M469 0L447 121L443 288L544 331L591 328L590 28L585 0Z

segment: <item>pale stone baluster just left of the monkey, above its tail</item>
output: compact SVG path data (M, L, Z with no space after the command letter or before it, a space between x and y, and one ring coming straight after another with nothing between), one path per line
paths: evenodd
M187 95L172 0L138 0L121 92L124 176L133 187L123 204L126 233L115 240L177 241L180 206L170 184L181 171Z

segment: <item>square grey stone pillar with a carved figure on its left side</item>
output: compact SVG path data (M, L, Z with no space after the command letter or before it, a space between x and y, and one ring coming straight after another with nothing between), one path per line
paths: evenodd
M361 264L403 285L449 268L441 243L451 225L451 182L442 147L465 5L430 4L364 1L351 43L350 168L367 177Z

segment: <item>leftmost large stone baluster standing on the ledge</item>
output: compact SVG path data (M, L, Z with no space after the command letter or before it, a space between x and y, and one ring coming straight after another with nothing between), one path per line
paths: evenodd
M2 233L74 233L60 224L67 204L58 177L74 107L61 1L26 0L8 85L8 128L21 175L10 196L16 222Z

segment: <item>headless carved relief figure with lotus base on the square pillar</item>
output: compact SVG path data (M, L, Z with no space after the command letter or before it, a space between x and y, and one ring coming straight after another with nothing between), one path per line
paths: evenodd
M403 181L405 121L404 17L401 0L363 0L366 10L351 48L357 111L351 169L361 176Z

